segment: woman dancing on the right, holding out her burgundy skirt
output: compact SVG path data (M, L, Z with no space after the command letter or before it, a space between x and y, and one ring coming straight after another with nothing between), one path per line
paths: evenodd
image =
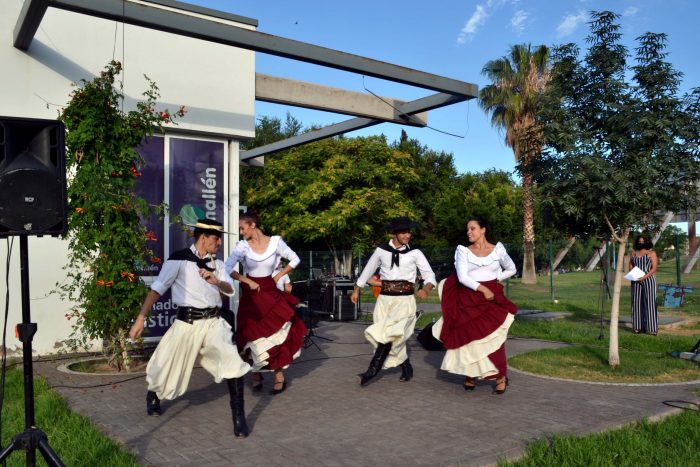
M465 375L464 389L476 378L495 379L494 394L508 385L505 341L516 306L503 295L499 281L515 274L505 247L486 240L488 224L480 218L467 223L469 247L455 252L456 272L442 285L442 318L433 326L447 352L441 369Z

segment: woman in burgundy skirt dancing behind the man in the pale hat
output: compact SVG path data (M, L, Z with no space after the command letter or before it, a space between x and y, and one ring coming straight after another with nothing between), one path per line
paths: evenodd
M239 231L243 239L226 260L226 272L241 283L236 344L251 361L253 390L262 390L261 370L274 371L272 394L279 394L287 388L282 370L300 355L306 327L294 314L299 300L280 292L277 281L289 274L300 260L282 237L270 237L260 230L260 218L254 212L241 215ZM276 270L280 258L289 263ZM238 263L245 275L234 271Z

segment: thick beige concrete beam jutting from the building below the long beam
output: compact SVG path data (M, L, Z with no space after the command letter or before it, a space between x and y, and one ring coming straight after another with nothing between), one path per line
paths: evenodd
M428 123L427 112L411 116L399 113L396 109L404 105L405 101L391 97L378 99L371 94L260 73L255 74L255 99L402 125L424 127Z

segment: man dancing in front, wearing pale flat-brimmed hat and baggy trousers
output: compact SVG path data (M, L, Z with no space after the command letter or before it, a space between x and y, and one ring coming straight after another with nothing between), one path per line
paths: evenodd
M187 390L197 357L217 383L226 380L231 396L235 436L248 436L243 408L243 378L250 365L238 355L231 326L221 317L221 295L233 295L233 279L214 255L221 246L223 226L204 219L194 226L194 244L176 251L163 263L144 300L129 336L141 336L144 321L158 298L172 288L177 319L148 361L146 411L160 415L160 399L174 399Z

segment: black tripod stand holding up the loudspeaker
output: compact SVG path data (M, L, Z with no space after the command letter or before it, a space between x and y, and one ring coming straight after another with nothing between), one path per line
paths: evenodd
M49 446L46 434L34 426L34 368L32 366L32 339L37 330L36 323L31 322L29 311L29 255L27 254L27 236L19 235L20 268L22 279L22 322L17 325L22 341L22 358L24 363L24 422L25 430L12 437L12 442L0 452L0 462L15 450L27 451L26 465L36 465L36 449L44 456L49 466L63 467L65 464Z

